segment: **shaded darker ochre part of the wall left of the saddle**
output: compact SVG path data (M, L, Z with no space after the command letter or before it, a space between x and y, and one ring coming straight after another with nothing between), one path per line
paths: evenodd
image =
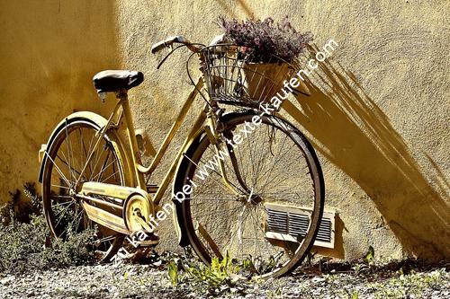
M37 180L37 150L73 110L104 110L92 76L118 66L115 7L105 1L0 3L0 200Z

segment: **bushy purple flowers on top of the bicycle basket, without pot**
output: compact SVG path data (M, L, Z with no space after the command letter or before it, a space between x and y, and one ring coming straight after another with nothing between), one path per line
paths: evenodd
M273 56L292 61L312 40L311 32L296 31L286 15L284 20L275 23L274 19L265 20L237 19L226 20L223 16L217 22L224 31L225 40L238 46L254 49L254 62L265 63ZM273 59L272 59L273 60Z

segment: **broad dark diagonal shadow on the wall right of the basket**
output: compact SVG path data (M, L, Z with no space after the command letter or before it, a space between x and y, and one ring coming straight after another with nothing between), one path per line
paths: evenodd
M315 138L311 142L320 154L364 189L406 253L424 259L448 257L446 191L438 193L428 183L408 145L355 75L329 60L315 71L314 84L304 82L311 96L296 98L302 110L285 102L293 118ZM440 173L439 179L446 181Z

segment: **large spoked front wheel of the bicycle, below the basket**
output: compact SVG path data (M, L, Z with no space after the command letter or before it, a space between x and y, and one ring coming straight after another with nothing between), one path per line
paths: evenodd
M222 122L219 152L208 136L186 152L183 185L192 192L182 203L183 225L205 263L229 254L258 277L280 277L311 250L324 181L317 155L297 128L273 116L253 123L254 116Z

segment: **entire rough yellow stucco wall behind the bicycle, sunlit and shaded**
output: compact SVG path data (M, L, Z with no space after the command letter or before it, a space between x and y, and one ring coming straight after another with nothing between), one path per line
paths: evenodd
M352 259L450 257L450 92L446 1L18 1L0 4L0 191L35 180L37 151L71 110L103 112L91 77L130 68L146 81L130 92L136 127L157 145L190 86L186 53L156 70L153 42L183 34L207 43L219 14L289 14L321 47L339 47L297 99L297 125L325 172L338 211L338 245ZM327 84L331 87L327 87ZM104 114L104 112L103 112ZM170 222L166 235L174 235ZM163 248L176 248L165 239Z

